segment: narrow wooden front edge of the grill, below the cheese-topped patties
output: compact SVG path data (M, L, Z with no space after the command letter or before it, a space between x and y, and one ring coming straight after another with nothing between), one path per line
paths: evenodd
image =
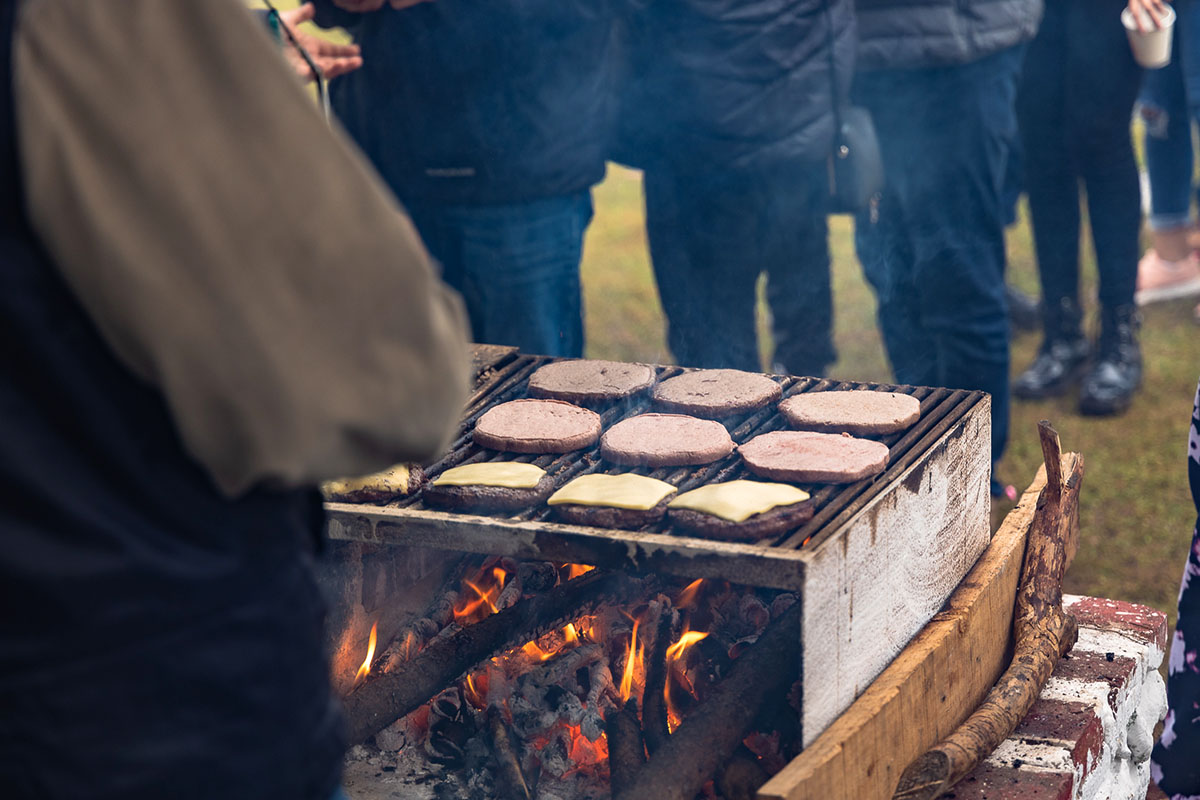
M800 590L804 552L689 536L326 503L331 539L590 564Z

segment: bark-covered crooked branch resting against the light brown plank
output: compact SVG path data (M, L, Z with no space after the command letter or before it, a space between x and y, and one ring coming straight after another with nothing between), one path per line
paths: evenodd
M1079 519L1084 459L1068 459L1064 480L1058 434L1045 420L1038 423L1038 434L1046 488L1025 546L1013 618L1013 662L958 730L908 765L893 800L932 800L962 780L1016 728L1055 663L1075 643L1075 620L1062 609L1062 576Z

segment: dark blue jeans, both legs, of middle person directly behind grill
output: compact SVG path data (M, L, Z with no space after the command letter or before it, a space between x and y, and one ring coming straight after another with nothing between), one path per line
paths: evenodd
M804 375L833 363L822 170L647 169L646 231L677 363L762 369L755 289L763 272L774 361Z

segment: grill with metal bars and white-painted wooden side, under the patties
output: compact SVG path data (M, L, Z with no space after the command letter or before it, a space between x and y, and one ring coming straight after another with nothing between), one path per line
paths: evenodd
M460 464L534 463L559 485L577 475L629 468L600 458L599 446L554 456L479 447L475 420L526 396L529 375L553 359L512 350L476 356L476 385L449 452L426 468L430 479ZM683 372L655 367L659 379ZM326 504L332 539L589 564L798 591L804 603L804 739L815 738L883 669L941 607L988 543L990 397L983 392L776 377L784 396L829 389L912 395L920 417L882 438L888 468L845 486L804 486L816 512L774 540L731 543L676 531L666 521L635 530L553 522L550 509L476 516L426 507L415 497L382 506ZM640 397L602 411L605 428L650 409ZM774 405L727 421L738 444L787 425ZM733 455L704 467L640 468L680 492L749 474Z

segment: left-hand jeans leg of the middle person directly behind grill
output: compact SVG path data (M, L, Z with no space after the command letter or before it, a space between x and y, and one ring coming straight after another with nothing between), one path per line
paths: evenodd
M647 170L646 233L667 320L667 344L686 367L758 372L755 255L758 210L728 174Z

